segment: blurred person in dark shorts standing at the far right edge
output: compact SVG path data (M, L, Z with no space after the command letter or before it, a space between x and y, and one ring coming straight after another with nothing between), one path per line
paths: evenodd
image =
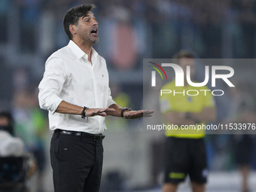
M256 139L255 135L251 134L251 127L249 127L251 123L256 122L255 102L247 86L248 84L239 82L236 87L230 88L229 114L224 120L224 124L233 123L237 126L246 127L245 130L234 130L232 135L233 157L242 176L242 192L251 191L248 178L251 172L251 161L255 147L254 141Z

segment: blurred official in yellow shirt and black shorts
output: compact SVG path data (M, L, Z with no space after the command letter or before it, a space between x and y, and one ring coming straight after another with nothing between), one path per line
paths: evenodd
M205 191L208 168L203 130L181 130L184 125L203 125L215 120L215 102L211 93L188 96L187 90L209 90L208 87L192 87L185 79L187 66L194 79L195 56L187 50L175 53L173 59L184 71L184 87L175 87L175 80L163 85L162 90L175 90L175 95L160 96L160 111L166 122L178 126L178 130L166 130L163 192L175 192L178 184L190 177L194 192ZM184 91L184 94L183 94Z

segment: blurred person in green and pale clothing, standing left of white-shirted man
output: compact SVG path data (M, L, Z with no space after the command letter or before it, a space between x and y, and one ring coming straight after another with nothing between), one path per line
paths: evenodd
M35 89L28 88L14 95L14 126L17 136L25 142L26 150L33 154L38 165L36 190L44 191L44 168L46 165L45 139L47 118L38 106Z

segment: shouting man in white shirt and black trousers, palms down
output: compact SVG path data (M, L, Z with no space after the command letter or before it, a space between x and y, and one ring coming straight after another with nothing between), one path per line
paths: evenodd
M93 49L98 40L94 5L66 12L70 41L46 62L39 104L49 111L55 192L96 192L102 175L105 116L150 117L153 111L121 108L111 98L105 59Z

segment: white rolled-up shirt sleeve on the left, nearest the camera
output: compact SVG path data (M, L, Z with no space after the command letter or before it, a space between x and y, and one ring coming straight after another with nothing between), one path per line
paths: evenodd
M44 78L41 80L38 89L38 100L41 108L54 113L62 98L59 93L66 81L66 66L64 62L57 58L51 57L45 63Z

